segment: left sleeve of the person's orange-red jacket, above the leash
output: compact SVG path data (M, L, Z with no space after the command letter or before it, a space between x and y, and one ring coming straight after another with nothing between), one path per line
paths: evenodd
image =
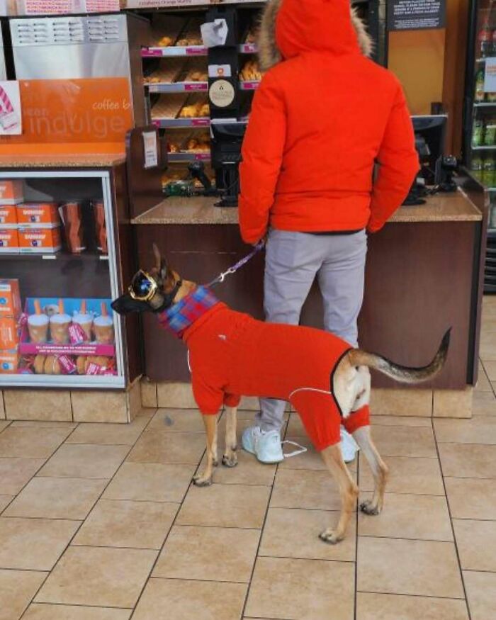
M283 94L268 73L253 99L239 166L239 227L246 243L257 243L266 234L285 142Z

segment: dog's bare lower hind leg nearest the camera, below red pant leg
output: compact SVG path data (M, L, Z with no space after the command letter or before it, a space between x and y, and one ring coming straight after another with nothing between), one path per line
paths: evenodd
M320 534L320 539L326 543L336 544L344 539L348 522L355 510L356 498L359 495L359 487L356 486L353 478L346 467L341 453L341 446L334 444L322 450L322 458L329 468L329 471L336 480L339 495L341 496L341 514L337 526L328 528Z

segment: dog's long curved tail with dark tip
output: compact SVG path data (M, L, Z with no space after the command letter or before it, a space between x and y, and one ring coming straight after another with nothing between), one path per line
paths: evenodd
M408 366L400 366L398 363L394 363L386 359L381 355L375 353L368 353L367 351L361 351L361 349L354 349L349 352L349 361L354 366L368 366L369 368L375 368L376 371L387 375L388 377L400 381L400 383L421 383L422 381L428 381L441 372L446 357L448 356L449 340L451 337L451 327L444 334L439 349L434 356L434 359L427 366L420 366L419 368L409 368Z

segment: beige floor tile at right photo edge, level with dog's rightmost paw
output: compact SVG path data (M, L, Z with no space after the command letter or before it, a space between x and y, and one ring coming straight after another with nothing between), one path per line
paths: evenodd
M494 519L496 480L444 478L453 519Z

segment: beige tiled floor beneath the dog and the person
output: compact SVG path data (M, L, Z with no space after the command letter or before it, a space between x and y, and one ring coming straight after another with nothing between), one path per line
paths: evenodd
M194 411L1 422L0 620L495 619L495 343L486 298L472 419L373 417L385 511L337 546L317 539L339 497L312 451L240 452L200 489ZM296 417L287 436L305 444ZM370 495L363 459L351 470Z

